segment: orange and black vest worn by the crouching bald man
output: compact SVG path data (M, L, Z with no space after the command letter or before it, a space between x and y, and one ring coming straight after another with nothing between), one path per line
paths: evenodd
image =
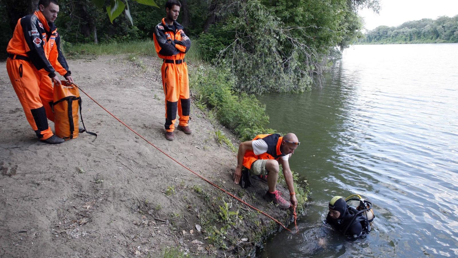
M279 134L270 135L257 135L253 140L262 139L267 143L267 152L256 155L253 151L247 150L245 156L243 156L243 166L250 169L251 164L258 159L275 159L278 160L280 157L285 156L280 151L280 145L282 144L283 136Z

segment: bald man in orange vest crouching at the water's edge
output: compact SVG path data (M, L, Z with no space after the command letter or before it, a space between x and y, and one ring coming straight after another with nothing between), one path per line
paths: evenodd
M253 140L240 143L237 154L237 167L234 172L234 183L243 188L251 185L250 177L259 176L267 179L268 190L264 199L273 202L280 208L297 207L296 193L294 192L293 174L289 169L288 159L299 146L297 136L289 133L257 135ZM286 185L289 189L289 201L286 201L276 189L279 165L282 165Z

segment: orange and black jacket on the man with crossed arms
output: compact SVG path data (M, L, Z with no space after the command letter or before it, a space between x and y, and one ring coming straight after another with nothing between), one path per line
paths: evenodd
M162 18L156 27L154 27L154 47L159 58L169 60L180 60L185 58L186 52L191 47L191 39L186 36L183 26L174 22L176 30L169 28L165 24L165 18Z

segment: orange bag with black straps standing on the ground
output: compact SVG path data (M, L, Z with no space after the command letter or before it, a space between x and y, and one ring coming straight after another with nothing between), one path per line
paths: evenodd
M78 133L87 132L97 138L97 134L86 131L84 122L82 123L84 129L78 130L78 109L81 114L81 97L76 84L67 81L61 81L61 85L54 84L54 102L49 104L54 111L55 135L70 140L78 137Z

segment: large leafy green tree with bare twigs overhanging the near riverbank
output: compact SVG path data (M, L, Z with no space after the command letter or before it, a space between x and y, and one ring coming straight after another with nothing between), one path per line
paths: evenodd
M241 92L306 90L331 51L348 46L362 26L347 0L251 0L232 6L234 11L225 9L231 16L223 28L235 39L218 61L237 75Z

